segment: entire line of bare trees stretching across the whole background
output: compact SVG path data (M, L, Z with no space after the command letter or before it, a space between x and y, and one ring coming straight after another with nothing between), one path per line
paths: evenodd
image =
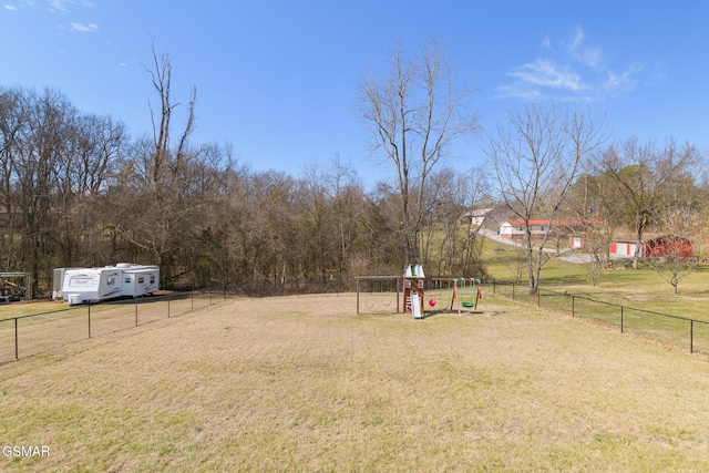
M55 90L0 89L0 270L31 274L40 296L54 268L120 261L158 265L164 288L328 285L404 264L484 277L482 239L461 216L491 206L524 222L534 294L558 229L533 240L532 219L588 223L592 276L619 228L638 243L650 230L698 239L707 228L700 153L674 140L612 142L588 110L524 105L484 132L483 166L446 167L451 144L481 130L467 112L473 89L455 85L435 43L419 54L399 45L387 73L358 88L372 154L394 171L369 189L337 154L294 176L255 172L228 144L194 143L196 88L176 133L169 58L153 50L153 60L146 135ZM684 274L670 271L675 288Z

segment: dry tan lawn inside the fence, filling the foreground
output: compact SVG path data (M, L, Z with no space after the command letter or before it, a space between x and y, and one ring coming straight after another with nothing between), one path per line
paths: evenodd
M709 363L494 316L237 299L0 368L2 471L707 471Z

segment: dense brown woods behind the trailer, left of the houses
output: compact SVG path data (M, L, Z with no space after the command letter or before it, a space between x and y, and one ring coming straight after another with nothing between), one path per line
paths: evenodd
M0 89L0 270L30 273L39 296L51 291L54 268L120 261L160 265L165 288L401 273L395 188L366 189L337 155L292 176L255 172L228 145L195 145L194 96L174 138L165 58L156 58L152 78L155 126L137 137L110 116L82 113L59 91ZM476 185L448 168L432 174L422 205L440 232L423 263L474 270L456 218Z

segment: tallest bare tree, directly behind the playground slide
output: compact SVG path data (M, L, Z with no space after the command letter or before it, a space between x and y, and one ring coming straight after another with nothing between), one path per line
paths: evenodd
M395 168L401 194L403 263L419 263L420 233L427 181L453 141L477 130L467 113L471 88L455 90L450 62L430 43L409 58L401 45L393 50L389 73L368 76L359 86L361 113L374 141Z

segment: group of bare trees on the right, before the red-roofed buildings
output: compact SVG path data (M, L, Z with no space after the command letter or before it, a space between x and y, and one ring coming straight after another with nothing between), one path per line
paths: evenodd
M621 233L636 243L630 255L635 269L646 234L665 234L666 255L645 261L675 294L700 260L682 250L682 241L691 241L697 253L702 249L709 223L705 161L693 145L671 137L664 145L636 137L614 142L603 119L552 103L512 113L487 134L484 150L495 195L523 223L531 295L548 260L545 245L558 235L583 236L593 284L610 264L610 243ZM546 226L533 237L534 219Z

